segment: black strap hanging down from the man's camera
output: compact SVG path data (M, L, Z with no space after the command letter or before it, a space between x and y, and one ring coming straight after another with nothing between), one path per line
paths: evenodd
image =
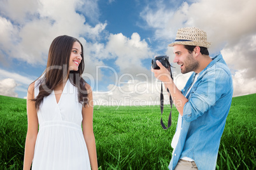
M169 70L170 70L170 74L171 74L170 64L169 64ZM173 79L172 74L171 74L171 79ZM170 105L171 105L171 109L172 109L173 108L173 99L171 98L171 93L168 88L167 88L167 92L169 93L169 101L170 101ZM160 110L161 110L160 124L161 124L162 128L166 130L171 127L171 111L170 111L169 118L168 118L168 126L166 128L166 126L164 125L164 122L162 121L162 112L164 111L164 95L162 94L162 82L161 82L161 93L160 93Z

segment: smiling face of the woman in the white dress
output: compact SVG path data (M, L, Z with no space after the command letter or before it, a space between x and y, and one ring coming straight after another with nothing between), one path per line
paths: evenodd
M74 42L69 58L69 70L78 70L78 66L82 60L82 47L79 42Z

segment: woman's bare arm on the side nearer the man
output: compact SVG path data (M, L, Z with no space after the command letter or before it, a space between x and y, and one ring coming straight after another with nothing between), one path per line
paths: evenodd
M94 169L98 169L96 142L95 142L95 137L94 137L94 129L92 126L94 103L92 100L92 89L90 88L90 86L88 84L85 85L85 88L87 89L87 91L89 93L88 94L89 103L82 109L83 137L85 138L85 143L87 145L87 149L89 152L90 166L92 167L92 170L94 170Z

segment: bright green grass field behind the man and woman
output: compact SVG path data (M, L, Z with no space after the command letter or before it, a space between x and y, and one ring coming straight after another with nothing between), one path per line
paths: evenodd
M256 169L256 94L235 97L218 152L217 169ZM169 115L164 107L164 122ZM99 169L167 169L178 112L160 126L159 106L94 107ZM22 169L26 101L0 96L0 169Z

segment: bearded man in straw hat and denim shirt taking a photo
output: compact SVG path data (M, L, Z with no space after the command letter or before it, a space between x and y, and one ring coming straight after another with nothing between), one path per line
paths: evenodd
M173 46L174 63L181 73L193 72L181 91L169 71L157 61L155 77L164 82L179 112L171 146L169 169L215 169L220 138L231 107L231 72L222 55L210 58L206 32L195 27L179 29Z

